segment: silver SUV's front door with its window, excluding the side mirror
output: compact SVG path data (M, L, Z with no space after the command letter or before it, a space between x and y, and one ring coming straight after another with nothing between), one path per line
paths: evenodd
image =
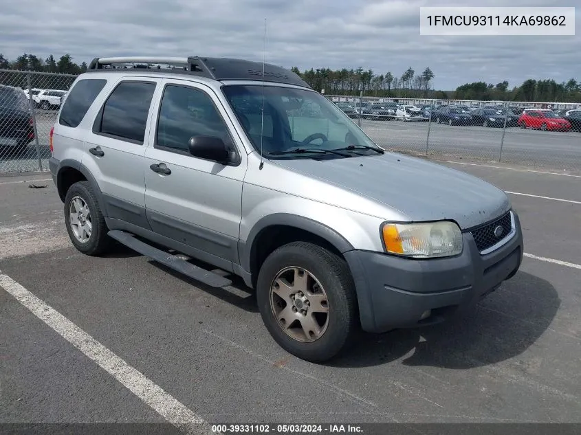
M164 80L157 113L144 162L151 228L193 247L201 260L231 269L238 262L247 166L234 126L212 89L182 80ZM188 141L195 135L221 138L236 151L238 163L229 166L193 157Z

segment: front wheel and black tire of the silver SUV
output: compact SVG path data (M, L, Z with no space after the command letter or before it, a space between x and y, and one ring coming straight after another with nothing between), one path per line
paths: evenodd
M305 271L308 274L309 284L306 288L310 291L302 296L296 293L298 290L295 289L300 288L300 284L295 285L293 279L300 275L300 271L303 271L303 276ZM277 278L280 278L278 282L292 282L292 287L275 287ZM314 293L317 282L322 293ZM279 296L275 288L287 289L286 292L281 292L284 293L284 298ZM293 295L296 295L294 302ZM312 243L293 242L272 252L259 271L256 299L263 322L276 343L288 353L305 361L320 363L340 355L353 343L359 329L355 285L347 263L336 254ZM308 306L305 300L309 300ZM321 309L324 311L325 300L327 314L318 312L315 323L309 322L315 328L318 327L318 331L307 336L303 328L308 329L309 324L303 324L300 320L307 320L309 313ZM306 307L312 311L305 311L307 314L304 315L297 307ZM289 316L290 323L286 320L279 321L277 313L281 319ZM313 315L310 317L311 320L315 318ZM284 324L292 328L285 328ZM309 330L309 333L312 332L313 330Z

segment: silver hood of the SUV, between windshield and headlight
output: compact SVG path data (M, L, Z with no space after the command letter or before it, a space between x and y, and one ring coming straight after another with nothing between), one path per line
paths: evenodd
M482 179L396 153L277 160L276 164L382 203L410 221L452 219L466 229L495 219L510 208L505 192ZM342 206L350 207L349 203Z

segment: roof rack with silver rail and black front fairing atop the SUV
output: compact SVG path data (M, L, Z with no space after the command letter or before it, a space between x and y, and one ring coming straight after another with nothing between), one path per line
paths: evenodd
M162 65L164 66L162 68ZM289 69L262 62L237 58L209 57L160 57L128 56L94 58L88 71L117 71L118 69L138 70L140 72L169 71L179 74L192 74L213 80L264 80L311 88L300 76Z

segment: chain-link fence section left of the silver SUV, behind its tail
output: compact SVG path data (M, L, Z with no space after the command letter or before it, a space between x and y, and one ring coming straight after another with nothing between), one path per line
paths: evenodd
M50 129L75 78L0 69L0 174L48 170Z

